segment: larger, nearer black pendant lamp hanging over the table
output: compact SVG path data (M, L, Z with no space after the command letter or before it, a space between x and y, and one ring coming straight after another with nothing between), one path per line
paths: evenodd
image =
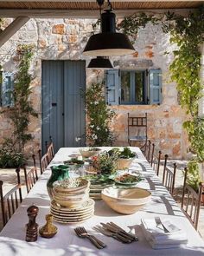
M135 52L128 36L116 33L116 16L111 10L101 14L101 33L92 35L84 49L85 56L123 56Z

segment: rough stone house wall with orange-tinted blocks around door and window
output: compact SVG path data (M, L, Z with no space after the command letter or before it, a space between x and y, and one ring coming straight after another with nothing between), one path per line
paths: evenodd
M6 23L10 23L8 19ZM0 63L6 71L16 70L16 46L18 44L33 44L35 56L30 69L33 75L31 83L31 100L39 113L38 119L32 119L29 131L35 136L35 143L29 145L35 150L41 143L41 60L79 60L90 57L82 56L87 39L92 33L92 20L82 19L30 19L1 48ZM169 82L169 63L174 46L169 44L169 36L163 34L160 26L148 25L139 31L135 43L137 50L132 56L112 57L116 68L160 68L163 70L163 102L159 106L132 105L112 106L117 117L112 128L118 135L116 145L127 145L127 113L143 115L148 113L148 135L156 142L164 154L172 158L187 156L188 140L182 129L182 122L186 119L185 112L177 102L175 83ZM94 80L104 77L104 71L86 69L86 84L89 86ZM0 143L3 136L10 133L10 123L6 115L0 115Z

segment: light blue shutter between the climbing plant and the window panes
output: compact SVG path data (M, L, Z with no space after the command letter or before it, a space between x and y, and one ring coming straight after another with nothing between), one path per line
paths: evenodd
M108 105L118 105L120 99L118 69L105 72L105 100Z

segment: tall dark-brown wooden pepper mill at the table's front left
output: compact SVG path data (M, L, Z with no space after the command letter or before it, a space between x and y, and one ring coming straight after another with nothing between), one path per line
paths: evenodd
M35 222L35 219L38 211L39 211L38 207L35 207L35 206L31 206L27 209L27 213L29 216L29 223L27 224L27 230L26 230L27 242L35 242L37 240L38 224Z

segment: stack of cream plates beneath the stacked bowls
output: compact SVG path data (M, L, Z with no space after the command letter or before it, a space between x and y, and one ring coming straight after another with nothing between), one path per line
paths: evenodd
M69 208L61 207L55 200L52 200L50 212L57 222L75 224L92 217L94 213L94 204L94 200L88 199L83 202L80 207Z

